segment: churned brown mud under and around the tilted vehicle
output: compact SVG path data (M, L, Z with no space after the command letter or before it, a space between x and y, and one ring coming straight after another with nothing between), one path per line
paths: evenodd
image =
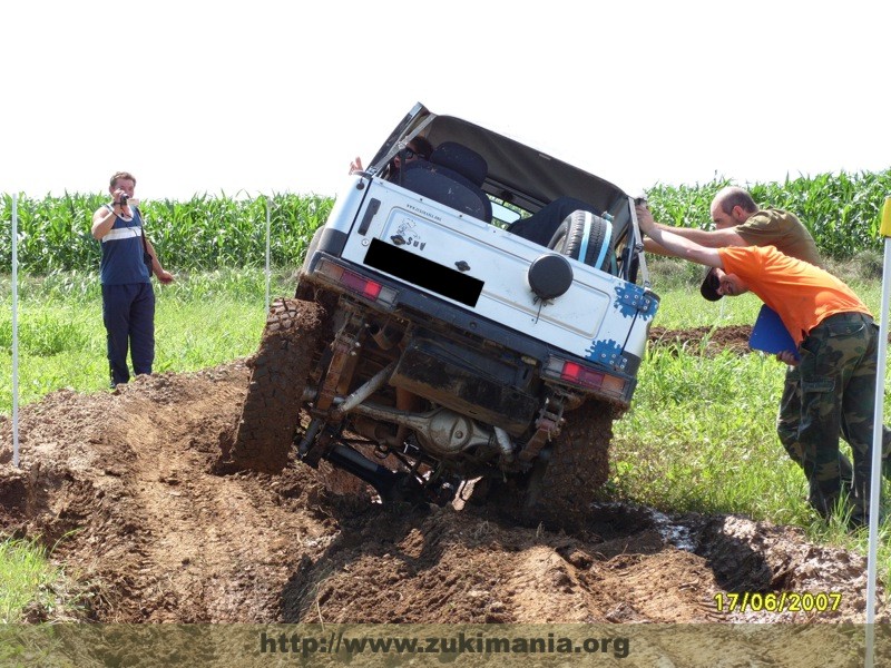
M703 333L653 334L699 345ZM708 345L744 350L747 334ZM227 472L247 379L239 361L56 392L20 412L20 469L0 418L0 532L52 547L98 621L863 621L865 558L787 527L601 504L552 533L470 504L384 509L295 462ZM719 615L721 591L843 598L834 613Z

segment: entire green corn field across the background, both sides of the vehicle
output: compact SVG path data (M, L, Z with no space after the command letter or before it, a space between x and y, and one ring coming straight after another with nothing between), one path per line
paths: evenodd
M646 195L657 220L682 227L711 226L709 204L727 179L696 186L657 184ZM891 169L817 175L784 183L746 184L755 202L793 212L813 234L821 254L848 259L881 250L879 219L891 194ZM303 258L333 199L292 194L270 198L271 264L291 268ZM92 213L107 194L66 194L18 199L18 261L22 272L98 268L100 247L90 235ZM146 232L173 271L260 267L266 256L266 198L196 196L189 202L146 202ZM0 196L0 262L12 262L12 196Z

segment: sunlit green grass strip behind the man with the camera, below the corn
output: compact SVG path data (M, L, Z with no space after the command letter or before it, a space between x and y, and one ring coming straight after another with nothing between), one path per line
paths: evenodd
M285 273L271 294L292 294ZM0 412L12 406L12 323L9 279L0 281ZM155 372L205 369L249 355L265 322L265 276L260 269L177 276L155 286ZM55 273L20 281L19 401L48 392L108 387L101 293L94 274Z

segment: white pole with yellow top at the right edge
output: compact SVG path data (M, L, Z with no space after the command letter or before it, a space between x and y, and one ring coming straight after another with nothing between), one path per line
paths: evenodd
M870 543L866 566L866 667L871 667L875 626L875 570L879 543L879 502L882 487L882 424L884 424L884 370L888 358L888 299L891 294L891 197L882 207L879 233L884 237L882 264L882 308L879 322L879 360L875 372L875 406L872 430L872 474L870 477Z

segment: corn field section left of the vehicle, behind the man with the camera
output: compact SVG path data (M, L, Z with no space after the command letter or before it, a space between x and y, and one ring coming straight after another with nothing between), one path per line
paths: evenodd
M51 274L99 267L92 214L107 194L18 198L18 262L22 272ZM270 198L270 258L274 267L300 264L313 232L327 218L333 199L275 195ZM200 196L189 202L156 200L139 206L146 235L172 271L262 267L266 258L266 198ZM0 197L0 262L12 263L12 196Z

